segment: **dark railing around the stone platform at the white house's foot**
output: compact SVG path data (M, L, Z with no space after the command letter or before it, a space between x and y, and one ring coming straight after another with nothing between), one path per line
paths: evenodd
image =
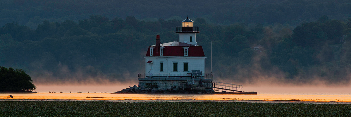
M194 76L192 73L138 73L138 78L202 78L213 79L212 73L200 73Z

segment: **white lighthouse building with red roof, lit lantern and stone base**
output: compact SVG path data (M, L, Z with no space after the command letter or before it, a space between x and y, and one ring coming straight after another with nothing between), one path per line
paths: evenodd
M212 88L213 75L205 73L205 54L196 42L199 27L186 17L181 27L176 27L179 41L161 43L157 35L155 45L148 47L145 58L145 73L138 73L139 87L157 84L159 88L182 89L193 86Z

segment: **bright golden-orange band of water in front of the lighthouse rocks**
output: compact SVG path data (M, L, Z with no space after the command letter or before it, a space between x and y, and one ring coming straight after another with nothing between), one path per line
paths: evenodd
M0 99L77 99L77 100L302 100L302 101L336 101L351 102L349 95L173 95L173 94L110 94L110 93L32 93L0 94ZM98 97L98 98L92 98Z

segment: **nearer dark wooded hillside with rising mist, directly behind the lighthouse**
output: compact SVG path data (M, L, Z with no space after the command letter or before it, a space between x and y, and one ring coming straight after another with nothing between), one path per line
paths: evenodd
M183 18L185 19L185 18ZM190 19L192 19L190 17ZM343 84L350 80L351 19L327 16L297 27L279 23L263 26L217 25L196 18L197 42L203 46L206 72L226 80L308 82L316 78ZM79 21L41 22L36 29L9 22L0 28L0 65L23 69L34 82L67 79L137 80L144 72L147 46L177 41L181 20L143 21L135 17L109 19L91 15ZM263 52L253 50L264 46Z

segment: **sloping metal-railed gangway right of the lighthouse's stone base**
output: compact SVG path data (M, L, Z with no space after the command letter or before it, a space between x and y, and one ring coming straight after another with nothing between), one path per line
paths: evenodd
M236 84L222 83L222 82L213 82L213 83L214 84L213 84L212 88L214 91L243 92L243 91L239 91L240 89L243 89L243 85L236 85Z

